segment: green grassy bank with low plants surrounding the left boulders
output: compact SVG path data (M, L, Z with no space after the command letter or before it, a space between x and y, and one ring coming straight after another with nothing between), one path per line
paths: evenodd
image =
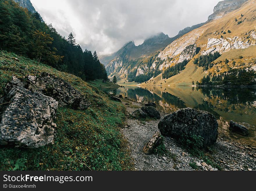
M18 60L16 60L17 58ZM14 53L0 53L1 86L11 76L49 72L83 93L85 110L58 108L55 144L38 149L0 147L0 170L128 170L132 168L126 141L120 133L125 107L74 75ZM0 90L3 94L3 90ZM17 168L18 167L18 168Z

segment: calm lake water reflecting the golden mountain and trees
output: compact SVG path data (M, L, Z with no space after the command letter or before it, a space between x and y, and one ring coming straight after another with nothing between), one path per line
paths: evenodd
M180 108L196 108L215 115L219 124L227 130L228 122L233 120L245 125L249 129L249 136L242 140L256 140L256 89L248 88L199 88L189 86L125 86L115 90L108 90L116 95L122 94L137 102L148 101L157 104L159 110L172 113ZM226 132L229 132L228 130Z

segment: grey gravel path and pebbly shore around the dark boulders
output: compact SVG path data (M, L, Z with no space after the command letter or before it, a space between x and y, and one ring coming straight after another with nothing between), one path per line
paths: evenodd
M140 121L132 119L130 114L141 108L143 104L130 99L122 99L122 103L126 105L127 116L126 126L122 129L122 133L130 144L129 149L136 170L194 170L189 163L196 162L198 165L202 164L202 166L198 166L200 170L211 169L204 163L205 161L191 156L186 150L179 147L173 138L166 137L164 140L166 149L170 154L164 156L145 155L143 147L158 130L160 120ZM166 115L163 112L160 112L160 114L161 118ZM229 140L221 132L219 132L218 140L210 158L220 165L223 170L256 170L256 148Z

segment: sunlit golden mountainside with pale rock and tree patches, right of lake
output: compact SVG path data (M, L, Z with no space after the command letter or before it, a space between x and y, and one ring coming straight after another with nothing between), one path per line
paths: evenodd
M203 76L212 78L214 74L222 75L232 69L255 69L255 10L256 1L246 1L238 9L173 41L150 65L138 66L140 71L144 70L143 75L152 72L147 68L160 73L151 76L147 85L191 85L192 81L200 81ZM213 53L221 56L212 59ZM181 65L185 60L188 63ZM175 68L176 65L179 68Z

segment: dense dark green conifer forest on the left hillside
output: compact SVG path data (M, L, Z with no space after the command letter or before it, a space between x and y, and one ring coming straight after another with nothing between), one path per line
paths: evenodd
M30 13L12 0L0 1L0 49L17 53L74 74L84 80L108 80L96 51L83 51L75 35L61 36L38 13Z

